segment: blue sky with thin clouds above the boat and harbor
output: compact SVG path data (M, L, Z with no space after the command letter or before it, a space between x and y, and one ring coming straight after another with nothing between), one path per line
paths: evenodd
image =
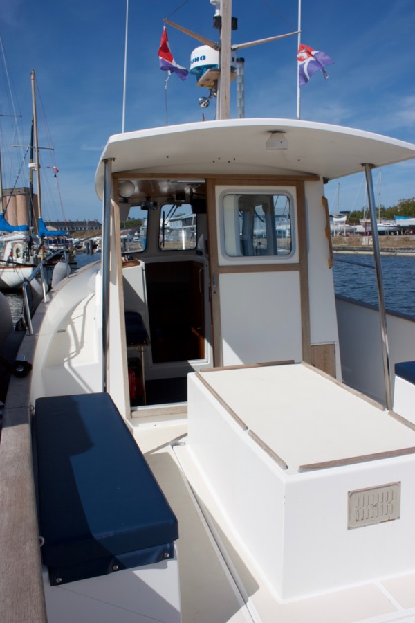
M102 220L94 178L111 134L122 130L126 0L1 0L0 145L3 187L27 182L35 70L45 219ZM129 0L125 130L214 119L215 104L189 76L165 84L158 47L163 18L217 40L209 0ZM297 30L297 1L234 0L232 43ZM326 52L329 78L316 73L301 89L301 118L365 129L415 143L414 0L302 0L302 43ZM190 65L201 45L167 26L174 59ZM297 36L239 52L245 59L245 116L296 118ZM0 51L1 52L1 51ZM231 116L237 117L232 85ZM17 114L13 118L6 115ZM13 124L13 127L12 127ZM16 128L19 128L17 136ZM53 150L46 149L52 147ZM56 173L52 166L58 168ZM55 177L56 176L56 177ZM374 172L386 207L415 196L415 162ZM326 186L335 213L367 204L362 174Z

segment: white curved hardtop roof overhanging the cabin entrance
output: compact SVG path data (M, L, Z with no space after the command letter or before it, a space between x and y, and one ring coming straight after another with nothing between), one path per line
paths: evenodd
M284 150L267 150L284 132ZM115 134L102 152L95 188L102 197L104 159L113 172L140 174L317 174L326 179L415 158L415 145L359 129L290 119L228 119Z

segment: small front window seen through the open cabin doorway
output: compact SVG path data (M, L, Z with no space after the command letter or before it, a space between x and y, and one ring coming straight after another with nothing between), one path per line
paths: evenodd
M197 215L190 204L164 204L160 210L160 251L195 249L197 244Z

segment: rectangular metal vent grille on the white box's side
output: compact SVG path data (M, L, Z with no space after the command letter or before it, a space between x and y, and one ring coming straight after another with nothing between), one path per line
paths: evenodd
M349 491L349 530L399 518L400 482Z

